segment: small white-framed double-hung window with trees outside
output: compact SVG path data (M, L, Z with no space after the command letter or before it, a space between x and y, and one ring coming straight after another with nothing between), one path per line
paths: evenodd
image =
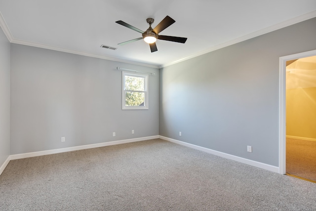
M148 109L148 75L122 72L122 109Z

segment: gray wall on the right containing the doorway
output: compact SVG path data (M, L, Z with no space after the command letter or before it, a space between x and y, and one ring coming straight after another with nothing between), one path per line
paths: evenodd
M314 49L316 18L160 69L159 134L277 167L279 57Z

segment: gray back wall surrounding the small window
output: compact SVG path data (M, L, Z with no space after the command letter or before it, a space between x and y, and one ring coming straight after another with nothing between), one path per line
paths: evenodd
M117 66L156 73L149 110L121 110ZM158 100L158 69L11 44L11 154L158 135Z

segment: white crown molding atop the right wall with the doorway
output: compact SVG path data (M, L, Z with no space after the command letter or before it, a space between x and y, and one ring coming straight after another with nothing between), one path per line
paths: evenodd
M173 64L176 64L176 63L179 63L179 62L182 62L182 61L185 61L185 60L188 60L188 59L191 59L191 58L203 55L205 53L209 53L209 52L212 52L214 50L218 50L220 48L227 47L227 46L232 45L232 44L236 44L238 42L243 42L243 41L246 41L246 40L249 40L249 39L252 39L252 38L255 38L255 37L258 37L258 36L270 33L270 32L273 32L273 31L276 31L278 29L282 29L284 27L291 26L291 25L294 25L296 23L300 23L302 21L309 20L311 18L315 18L315 17L316 17L316 10L314 10L312 12L309 12L309 13L306 13L304 15L300 15L300 16L297 16L295 18L283 21L283 22L275 24L273 26L270 26L270 27L258 30L256 32L253 32L253 33L241 36L241 37L239 37L237 39L234 39L234 40L231 40L231 41L228 41L228 42L223 42L221 44L212 46L210 48L207 48L205 50L202 50L202 51L199 51L197 53L191 54L189 56L183 57L183 58L178 59L176 61L163 64L159 68L167 67L167 66L170 66L170 65L173 65Z

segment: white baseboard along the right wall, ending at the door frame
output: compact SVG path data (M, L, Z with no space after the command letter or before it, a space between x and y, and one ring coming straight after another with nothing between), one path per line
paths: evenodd
M170 142L176 143L176 144L187 146L187 147L190 147L190 148L193 148L193 149L197 149L197 150L200 150L200 151L203 151L203 152L207 152L207 153L210 153L210 154L213 154L213 155L217 155L217 156L220 156L222 158L227 158L227 159L230 159L230 160L233 160L233 161L237 161L239 163L243 163L243 164L247 164L247 165L250 165L250 166L253 166L253 167L257 167L257 168L260 168L260 169L266 169L266 170L270 170L270 171L279 173L279 168L278 167L271 166L269 164L264 164L264 163L260 163L260 162L257 162L257 161L252 161L252 160L241 158L241 157L238 157L238 156L235 156L235 155L230 155L230 154L227 154L227 153L219 152L219 151L208 149L208 148L205 148L205 147L200 147L200 146L197 146L197 145L194 145L194 144L189 144L189 143L186 143L186 142L183 142L183 141L179 141L179 140L175 140L175 139L172 139L172 138L167 138L167 137L164 137L164 136L161 136L161 135L159 135L159 138L161 138L163 140L166 140L166 141L170 141Z

